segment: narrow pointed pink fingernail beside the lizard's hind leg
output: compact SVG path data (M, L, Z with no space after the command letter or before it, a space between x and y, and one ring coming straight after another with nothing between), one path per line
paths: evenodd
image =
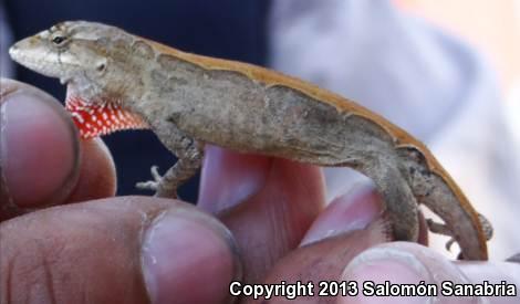
M301 245L366 228L382 212L379 196L373 186L356 186L336 197L306 232Z

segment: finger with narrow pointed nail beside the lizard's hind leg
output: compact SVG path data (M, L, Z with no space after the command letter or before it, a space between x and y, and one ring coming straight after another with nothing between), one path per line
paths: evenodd
M324 287L326 282L340 282L343 269L362 251L393 240L391 223L382 211L381 196L368 185L354 187L337 197L313 222L300 248L274 265L266 283L311 282L316 296L299 297L300 301L312 303L326 297L333 301L334 294ZM320 282L325 284L320 285ZM277 298L283 300L290 301L289 297Z

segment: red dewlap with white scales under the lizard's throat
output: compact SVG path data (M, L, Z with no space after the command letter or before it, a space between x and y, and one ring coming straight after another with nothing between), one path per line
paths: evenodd
M118 103L87 103L81 97L72 96L66 99L65 108L71 113L80 136L84 139L116 130L148 128L138 115L123 109Z

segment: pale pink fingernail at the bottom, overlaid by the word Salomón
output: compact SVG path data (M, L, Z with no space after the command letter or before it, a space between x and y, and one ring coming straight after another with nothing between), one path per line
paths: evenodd
M340 303L431 303L435 297L428 296L382 296L388 289L381 287L379 295L373 294L378 286L392 284L394 291L399 284L429 283L427 268L414 254L393 248L373 248L354 258L343 271L342 281L355 282L357 295L343 297ZM425 283L423 283L425 284ZM372 293L372 294L371 294Z

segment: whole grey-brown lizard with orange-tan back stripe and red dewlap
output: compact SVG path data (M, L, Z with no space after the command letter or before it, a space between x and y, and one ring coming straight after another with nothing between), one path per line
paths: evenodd
M487 260L489 221L428 148L384 117L311 83L261 66L183 52L116 27L58 23L9 50L11 57L66 84L80 135L152 129L177 156L163 176L138 182L157 197L201 166L205 144L321 167L350 167L382 195L395 240L417 241L419 205L443 222L460 259Z

